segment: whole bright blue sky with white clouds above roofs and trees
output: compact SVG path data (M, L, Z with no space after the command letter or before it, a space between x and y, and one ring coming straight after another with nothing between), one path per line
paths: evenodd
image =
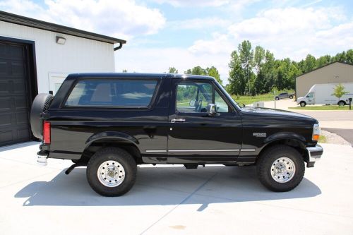
M4 0L0 10L127 40L116 71L216 66L243 40L299 61L352 49L353 1Z

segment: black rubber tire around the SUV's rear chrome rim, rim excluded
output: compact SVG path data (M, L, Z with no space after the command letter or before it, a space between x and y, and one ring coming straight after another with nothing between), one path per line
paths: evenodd
M104 186L98 179L97 171L100 165L106 161L116 161L124 167L124 181L119 186ZM104 147L95 152L87 164L86 176L91 188L98 194L107 197L124 195L136 181L136 162L133 157L119 147Z

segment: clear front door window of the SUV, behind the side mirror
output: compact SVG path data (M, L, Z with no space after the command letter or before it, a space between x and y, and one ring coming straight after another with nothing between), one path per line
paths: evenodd
M216 104L217 112L228 112L229 107L210 83L179 83L177 112L205 113L208 104Z

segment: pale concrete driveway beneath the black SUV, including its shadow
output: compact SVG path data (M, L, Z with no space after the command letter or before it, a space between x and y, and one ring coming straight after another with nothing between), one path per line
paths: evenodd
M0 148L1 234L352 234L353 149L323 145L316 167L287 193L254 167L138 168L120 198L91 190L69 161L36 164L37 143Z

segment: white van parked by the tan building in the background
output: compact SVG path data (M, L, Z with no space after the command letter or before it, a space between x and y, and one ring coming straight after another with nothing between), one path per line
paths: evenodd
M297 98L297 104L300 104L301 107L306 106L306 104L349 104L348 99L353 98L353 83L340 83L345 87L345 91L348 92L348 94L340 97L340 100L335 95L332 95L338 84L315 84L304 97Z

